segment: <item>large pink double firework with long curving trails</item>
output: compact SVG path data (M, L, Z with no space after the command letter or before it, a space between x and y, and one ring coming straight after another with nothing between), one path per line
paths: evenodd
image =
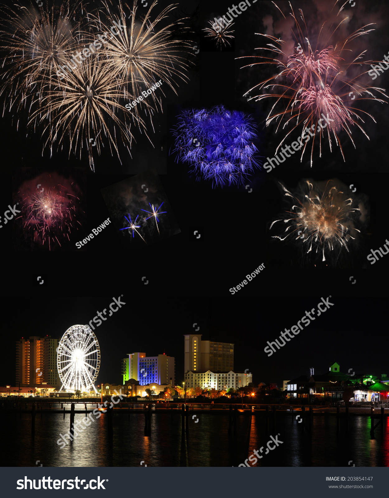
M274 2L272 3L281 12L280 8ZM313 134L311 134L313 136L310 159L311 167L313 149L317 140L319 140L320 157L322 140L328 139L332 152L332 139L334 139L335 143L339 145L343 159L345 160L339 138L341 130L347 133L354 147L352 126L357 126L369 139L369 136L361 125L365 123L363 117L368 116L375 123L376 121L371 114L356 106L357 100L354 100L356 96L358 97L358 101L374 100L385 103L385 101L378 99L375 95L375 93L378 93L386 97L385 89L365 86L361 82L361 78L368 71L362 70L362 72L360 71L352 79L347 77L347 73L350 73L350 68L352 67L370 67L370 64L378 63L378 61L362 60L367 50L361 53L353 53L353 50L350 48L350 43L353 40L367 35L374 30L371 27L373 24L367 24L349 34L341 41L336 41L340 26L348 22L348 17L344 14L341 15L347 3L345 2L339 8L337 6L338 1L335 2L333 9L339 8L339 11L332 21L330 16L333 10L331 11L328 23L324 22L322 24L319 35L316 37L316 46L313 46L313 40L308 33L303 11L299 9L298 18L289 2L290 16L295 25L294 30L292 29L292 36L295 41L294 53L288 55L286 41L269 34L256 33L265 37L270 42L267 43L268 48L263 47L261 49L270 53L264 56L253 56L256 59L260 59L260 61L243 66L252 67L258 64L272 64L276 66L276 74L252 87L245 95L257 89L261 93L249 100L255 99L256 102L269 98L275 100L266 117L266 126L275 120L277 123L276 131L278 131L279 127L283 129L287 126L289 129L288 133L277 146L275 153L277 153L286 137L296 127L302 125L303 129L314 130ZM282 12L281 14L286 19ZM333 44L331 44L331 40L334 40ZM239 57L239 59L242 58L247 57ZM351 97L351 95L354 96ZM282 106L279 111L275 110L277 105ZM324 121L325 124L323 125ZM307 142L308 140L306 140L302 149L300 161L302 161L305 149L307 148Z

